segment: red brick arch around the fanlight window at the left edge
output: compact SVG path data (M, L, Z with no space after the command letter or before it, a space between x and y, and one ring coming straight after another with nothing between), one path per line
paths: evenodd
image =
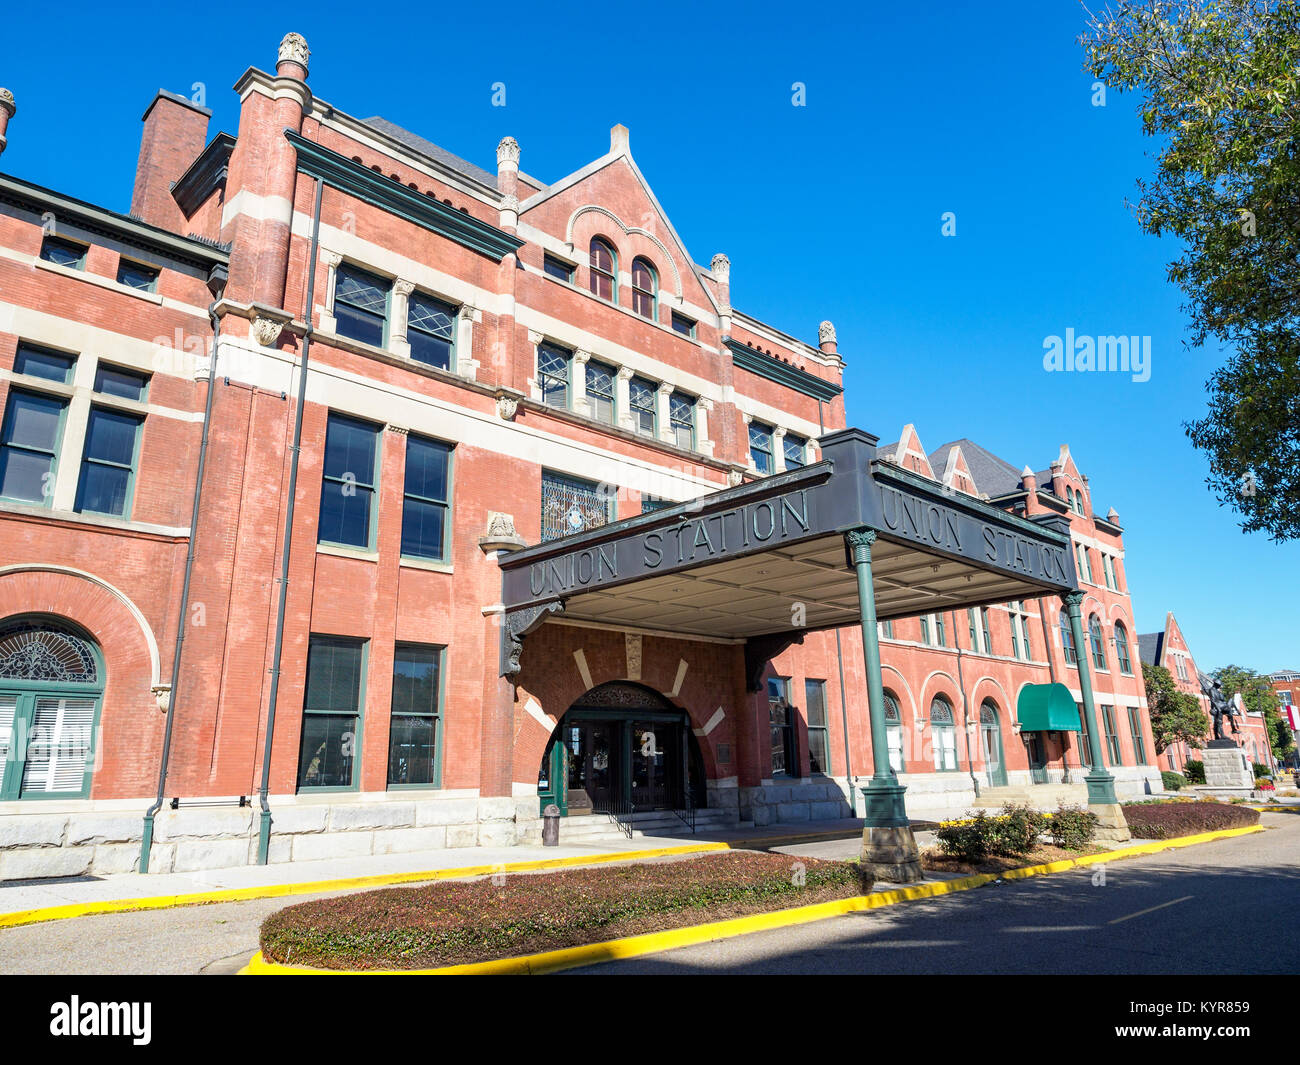
M148 796L166 719L152 690L159 683L157 641L135 603L90 573L48 566L0 570L0 624L44 614L94 637L104 657L105 683L91 797Z

